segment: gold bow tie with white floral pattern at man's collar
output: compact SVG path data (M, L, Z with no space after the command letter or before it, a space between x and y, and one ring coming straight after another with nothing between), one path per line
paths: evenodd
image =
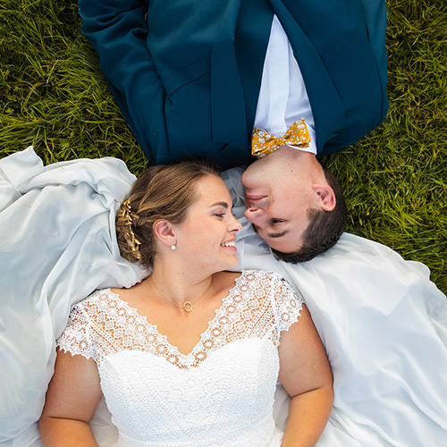
M263 157L274 152L280 146L308 148L311 138L304 118L294 122L283 137L274 137L263 129L255 128L251 136L251 155Z

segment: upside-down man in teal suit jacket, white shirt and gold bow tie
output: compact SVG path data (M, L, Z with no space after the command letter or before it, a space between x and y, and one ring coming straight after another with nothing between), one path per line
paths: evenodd
M276 256L335 244L346 208L316 156L384 121L384 0L80 0L80 16L151 163L249 165L246 216Z

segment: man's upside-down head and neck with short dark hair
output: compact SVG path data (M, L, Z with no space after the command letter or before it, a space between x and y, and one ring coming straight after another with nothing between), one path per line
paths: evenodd
M308 261L333 247L342 235L342 190L313 154L280 147L250 164L241 181L245 217L278 259Z

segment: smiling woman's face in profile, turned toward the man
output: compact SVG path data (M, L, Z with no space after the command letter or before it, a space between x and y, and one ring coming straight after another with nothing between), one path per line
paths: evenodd
M232 199L220 177L207 175L196 185L196 200L175 228L176 255L190 268L220 272L237 265L236 233L241 224L232 215Z

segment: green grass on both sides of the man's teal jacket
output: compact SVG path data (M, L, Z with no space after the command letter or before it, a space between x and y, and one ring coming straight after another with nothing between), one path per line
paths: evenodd
M325 158L342 182L348 231L431 269L447 292L447 4L388 2L390 111ZM0 3L0 157L34 145L44 161L116 156L148 166L80 34L74 0Z

